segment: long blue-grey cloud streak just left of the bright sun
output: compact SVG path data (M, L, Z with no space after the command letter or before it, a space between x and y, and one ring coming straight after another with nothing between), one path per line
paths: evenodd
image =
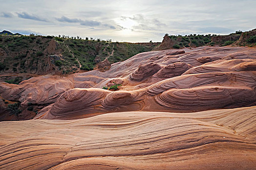
M83 26L89 26L89 27L104 27L104 28L110 28L110 29L116 29L116 27L109 25L109 24L103 24L100 21L94 21L94 20L82 20L78 18L68 18L65 16L62 16L60 18L56 18L60 22L68 22L68 23L80 23L80 25Z

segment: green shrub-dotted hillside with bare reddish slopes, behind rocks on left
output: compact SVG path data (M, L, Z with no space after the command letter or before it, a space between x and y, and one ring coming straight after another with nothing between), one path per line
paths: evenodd
M148 47L134 43L68 36L0 35L0 72L68 74L92 70L108 58L124 61Z

